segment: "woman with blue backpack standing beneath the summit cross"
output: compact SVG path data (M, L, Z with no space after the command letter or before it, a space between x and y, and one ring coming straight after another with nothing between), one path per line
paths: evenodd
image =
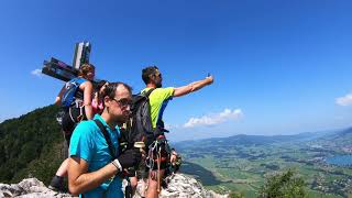
M69 141L77 123L82 120L91 120L94 118L92 101L92 80L95 78L95 66L84 64L80 66L78 77L67 81L55 99L55 105L62 106L64 114L62 117L62 129L64 138L69 147ZM65 151L65 154L68 152ZM51 189L64 191L64 177L67 176L66 160L57 169L50 185Z

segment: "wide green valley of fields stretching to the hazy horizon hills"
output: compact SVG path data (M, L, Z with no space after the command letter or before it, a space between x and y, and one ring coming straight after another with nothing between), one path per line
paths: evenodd
M265 178L290 168L305 179L309 197L348 197L352 194L352 166L330 165L326 160L351 155L351 134L349 129L332 134L235 135L180 142L176 147L186 161L182 172L216 191L257 197Z

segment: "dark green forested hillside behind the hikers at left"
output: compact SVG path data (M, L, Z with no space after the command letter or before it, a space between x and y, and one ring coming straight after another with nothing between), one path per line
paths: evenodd
M48 106L0 123L0 183L29 176L50 183L63 161L58 111Z

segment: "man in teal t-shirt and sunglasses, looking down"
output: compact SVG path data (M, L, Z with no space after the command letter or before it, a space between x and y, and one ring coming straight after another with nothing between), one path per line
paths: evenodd
M118 153L118 124L130 116L131 88L122 82L112 82L103 94L105 110L95 120L102 123L110 136L118 157L111 156L109 144L95 121L80 122L70 139L68 162L68 187L74 195L87 197L123 197L121 178L117 176L123 168L139 164L139 150Z

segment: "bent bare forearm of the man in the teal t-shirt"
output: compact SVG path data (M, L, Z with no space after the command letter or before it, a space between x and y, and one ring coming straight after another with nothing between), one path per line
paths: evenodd
M100 186L118 173L118 168L109 163L105 167L87 173L88 163L77 156L68 160L68 188L73 195L78 195Z

